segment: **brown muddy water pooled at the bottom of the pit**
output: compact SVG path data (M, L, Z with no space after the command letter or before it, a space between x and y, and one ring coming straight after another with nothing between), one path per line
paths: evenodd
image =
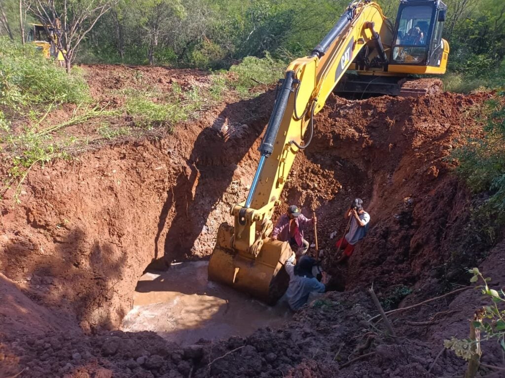
M138 281L133 309L123 331L154 331L189 345L200 338L247 336L260 327L280 327L291 317L285 304L269 307L226 286L207 280L208 262L172 266L146 273Z

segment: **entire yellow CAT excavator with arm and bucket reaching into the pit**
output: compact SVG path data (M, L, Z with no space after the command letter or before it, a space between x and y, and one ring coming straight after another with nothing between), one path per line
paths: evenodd
M269 304L282 296L288 284L283 265L292 252L287 242L270 238L271 219L296 154L311 143L314 116L333 91L400 96L440 91L438 79L409 76L445 73L446 12L440 0L400 0L393 26L377 3L355 1L310 56L291 62L279 82L247 199L232 206L233 226L219 227L210 280Z

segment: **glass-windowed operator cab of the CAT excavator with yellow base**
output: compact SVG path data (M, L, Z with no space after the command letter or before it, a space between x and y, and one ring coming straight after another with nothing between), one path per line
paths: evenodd
M403 0L398 8L388 72L445 72L448 44L442 39L447 6L440 0ZM445 42L445 43L444 43Z

